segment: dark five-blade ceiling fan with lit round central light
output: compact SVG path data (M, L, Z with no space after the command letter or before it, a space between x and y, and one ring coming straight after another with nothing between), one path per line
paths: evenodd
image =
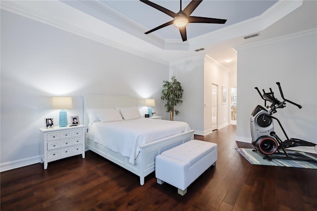
M156 3L153 3L152 1L149 0L140 0L143 3L148 4L149 6L152 6L156 9L158 9L161 12L164 12L165 14L171 16L173 20L164 23L148 32L145 34L150 34L151 32L154 32L158 29L161 29L165 26L169 26L171 24L174 24L175 26L178 27L180 35L182 37L183 42L187 40L187 35L186 35L186 25L187 23L219 23L219 24L224 24L227 20L226 19L217 19L217 18L208 18L208 17L197 17L197 16L190 16L192 12L196 9L196 7L203 1L203 0L192 0L184 10L182 10L182 0L180 0L180 10L179 12L175 13L172 12Z

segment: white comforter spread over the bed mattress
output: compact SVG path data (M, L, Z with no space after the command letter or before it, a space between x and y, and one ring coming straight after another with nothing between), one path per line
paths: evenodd
M139 118L115 122L94 122L89 125L87 138L97 142L134 163L143 144L189 131L180 121Z

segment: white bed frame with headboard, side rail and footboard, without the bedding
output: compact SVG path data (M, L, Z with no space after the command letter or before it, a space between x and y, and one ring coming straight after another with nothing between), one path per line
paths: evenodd
M96 96L84 95L84 122L88 128L89 118L86 108L114 108L137 106L138 99L125 96ZM159 120L158 120L159 121ZM87 130L86 130L87 131ZM128 157L114 152L101 144L86 138L86 148L98 155L120 165L128 171L140 176L140 184L144 185L144 178L155 170L155 158L162 152L194 139L194 131L190 130L178 135L160 139L140 146L141 150L134 164Z

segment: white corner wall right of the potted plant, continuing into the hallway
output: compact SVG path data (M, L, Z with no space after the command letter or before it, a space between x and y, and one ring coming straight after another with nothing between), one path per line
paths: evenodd
M174 120L185 121L197 135L211 133L211 86L218 85L218 129L229 124L229 102L221 104L221 88L229 87L229 73L208 56L198 56L170 64L170 77L175 75L184 89L180 114ZM205 107L204 105L207 104ZM166 113L168 118L168 113Z

